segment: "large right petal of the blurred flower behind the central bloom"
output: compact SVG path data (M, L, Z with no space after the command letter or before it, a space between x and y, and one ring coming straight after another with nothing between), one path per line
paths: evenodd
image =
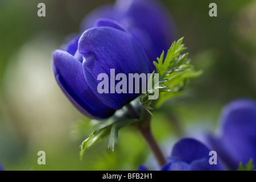
M175 39L174 26L169 13L161 3L152 0L119 0L117 7L124 13L121 24L127 22L125 19L133 20L133 24L124 26L141 28L149 34L154 45L154 49L145 48L150 61L155 61L163 50L169 49Z

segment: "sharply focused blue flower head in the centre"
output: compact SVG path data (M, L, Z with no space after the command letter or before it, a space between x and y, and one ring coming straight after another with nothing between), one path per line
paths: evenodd
M151 73L150 61L139 43L114 20L102 19L72 40L66 51L53 53L56 80L69 100L91 118L110 117L139 94L99 94L100 73ZM110 79L109 79L110 82Z

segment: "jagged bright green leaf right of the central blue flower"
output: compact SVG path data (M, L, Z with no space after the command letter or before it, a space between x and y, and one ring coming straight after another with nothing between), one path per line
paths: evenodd
M155 68L159 74L159 82L153 85L153 90L147 90L145 96L141 99L143 105L146 106L146 110L151 113L152 100L149 97L156 89L159 90L159 98L154 107L161 106L165 101L170 98L176 97L181 94L187 80L189 78L198 77L202 74L202 71L195 71L193 65L190 64L190 60L187 59L188 53L181 55L182 51L185 51L185 47L182 44L183 38L171 45L167 55L163 51L162 55L157 58L158 63L154 61ZM165 60L163 60L165 57ZM154 76L154 72L152 73ZM154 77L155 78L155 77ZM154 83L154 78L152 83Z

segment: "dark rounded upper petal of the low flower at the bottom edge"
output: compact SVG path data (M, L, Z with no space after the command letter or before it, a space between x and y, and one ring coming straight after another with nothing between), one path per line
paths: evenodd
M209 152L209 148L198 140L185 138L174 145L171 158L178 158L190 164L194 160L209 158Z

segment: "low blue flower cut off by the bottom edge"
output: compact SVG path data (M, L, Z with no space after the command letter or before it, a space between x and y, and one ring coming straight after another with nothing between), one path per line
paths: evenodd
M210 149L198 140L185 138L179 140L168 158L168 162L161 168L161 171L221 171L222 164L209 164ZM147 170L140 166L139 171Z

